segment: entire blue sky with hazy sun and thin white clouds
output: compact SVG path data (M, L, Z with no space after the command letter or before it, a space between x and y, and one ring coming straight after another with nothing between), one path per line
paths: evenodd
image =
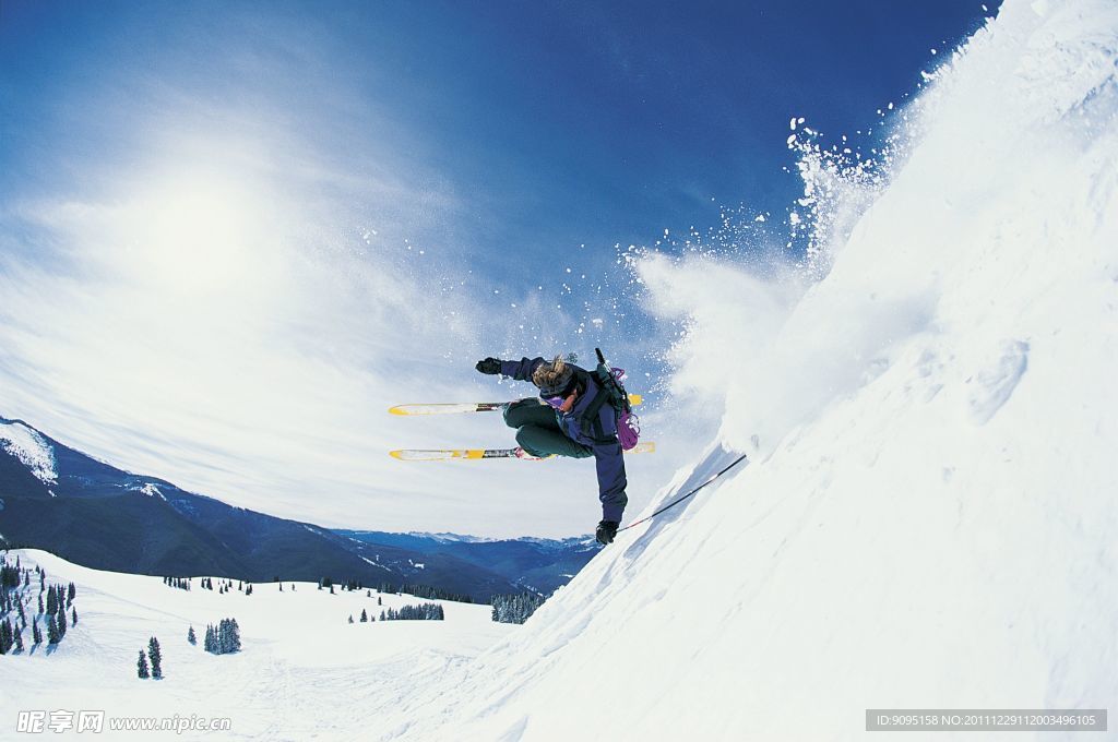
M745 249L783 244L789 118L872 145L987 4L6 1L0 413L326 525L585 532L593 467L555 465L586 491L559 505L519 498L531 472L401 479L366 462L508 436L383 407L595 344L654 386L678 325L615 245L739 204L770 215Z

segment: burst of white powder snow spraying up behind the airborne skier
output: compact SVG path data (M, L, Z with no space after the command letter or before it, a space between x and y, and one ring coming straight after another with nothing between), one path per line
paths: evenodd
M690 434L702 429L695 420L720 418L720 438L751 453L771 450L828 400L872 379L888 365L889 346L927 322L931 302L925 291L882 291L872 274L843 296L815 286L883 192L904 132L863 159L825 148L802 121L793 120L788 148L804 191L788 210L783 249L771 229L742 221L766 219L742 209L721 227L733 249L631 256L646 308L679 327L663 359L673 368L672 413L686 412ZM726 409L732 413L723 417Z

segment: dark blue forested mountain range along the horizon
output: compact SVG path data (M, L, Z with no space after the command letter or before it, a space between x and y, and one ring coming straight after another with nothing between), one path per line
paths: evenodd
M0 546L102 570L364 584L424 584L487 601L550 594L597 552L593 539L487 540L330 530L235 507L131 474L0 417Z

